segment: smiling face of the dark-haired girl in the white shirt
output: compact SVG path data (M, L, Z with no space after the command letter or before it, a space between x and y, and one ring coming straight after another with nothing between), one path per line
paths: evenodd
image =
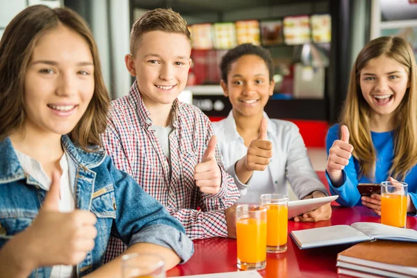
M241 56L231 64L227 83L221 82L224 96L229 97L234 115L250 117L263 113L274 92L265 61L256 55Z

